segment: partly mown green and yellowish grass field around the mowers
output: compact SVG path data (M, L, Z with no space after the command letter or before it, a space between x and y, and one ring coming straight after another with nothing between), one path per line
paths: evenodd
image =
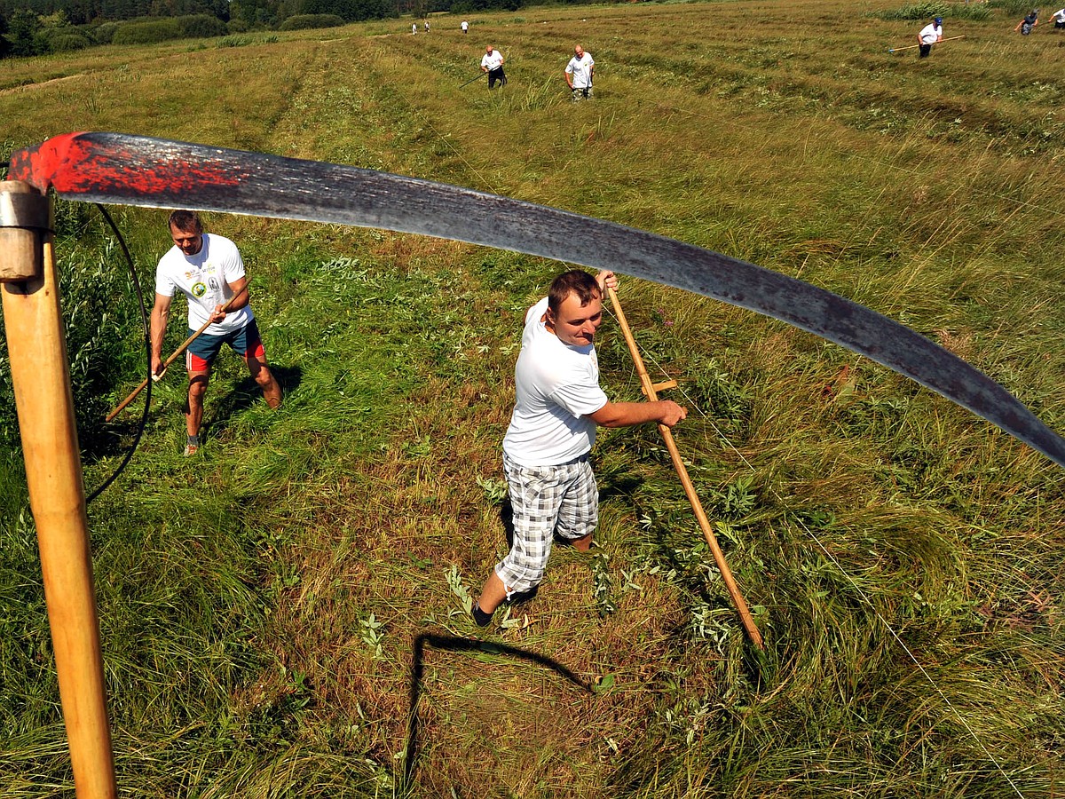
M965 38L921 61L887 52L923 25L878 16L895 7L524 9L465 36L441 15L429 35L405 18L9 60L0 141L155 135L633 225L897 319L1065 430L1065 32L944 6ZM596 97L574 104L578 42ZM508 85L460 88L486 44ZM165 213L112 211L150 292ZM59 213L92 488L135 430L137 412L100 420L141 379L141 332L99 215ZM285 403L224 356L186 460L171 374L88 507L120 796L1065 793L1065 480L1043 456L836 345L623 278L766 651L651 427L601 433L594 557L556 549L535 602L485 633L463 599L506 551L518 320L561 265L209 229L242 248ZM638 398L615 321L597 349L608 395ZM72 796L5 363L0 797Z

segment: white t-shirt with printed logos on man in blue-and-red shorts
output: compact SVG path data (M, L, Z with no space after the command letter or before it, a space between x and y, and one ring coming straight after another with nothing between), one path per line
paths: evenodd
M229 283L244 277L241 251L229 239L214 233L203 233L203 245L194 256L186 256L177 245L159 259L155 267L155 293L173 297L180 291L189 299L189 329L198 330L211 319L216 306L225 305L233 296ZM226 314L203 332L220 336L237 330L255 316L250 306Z

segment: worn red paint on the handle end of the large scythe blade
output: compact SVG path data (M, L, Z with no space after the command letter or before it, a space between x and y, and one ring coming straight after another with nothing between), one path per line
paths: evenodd
M122 197L174 194L202 185L240 183L232 166L193 163L92 133L65 133L15 153L10 177L60 194L102 192Z

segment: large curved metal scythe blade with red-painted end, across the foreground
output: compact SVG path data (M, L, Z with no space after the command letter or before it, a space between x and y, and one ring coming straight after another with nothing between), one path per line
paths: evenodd
M997 382L914 330L801 280L643 230L353 166L120 133L50 138L14 153L9 178L68 199L423 233L655 280L853 349L1065 466L1065 440Z

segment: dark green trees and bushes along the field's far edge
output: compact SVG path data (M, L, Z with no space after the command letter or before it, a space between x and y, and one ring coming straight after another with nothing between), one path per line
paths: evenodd
M0 0L0 58L328 28L402 14L513 11L526 4L526 0Z

